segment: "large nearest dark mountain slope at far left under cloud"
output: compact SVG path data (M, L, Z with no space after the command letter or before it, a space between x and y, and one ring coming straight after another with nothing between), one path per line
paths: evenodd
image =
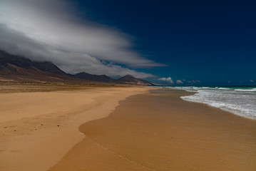
M0 51L0 81L30 83L86 83L51 62L36 62Z

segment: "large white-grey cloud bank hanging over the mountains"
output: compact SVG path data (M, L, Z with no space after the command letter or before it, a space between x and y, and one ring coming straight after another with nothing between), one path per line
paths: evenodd
M153 75L121 65L163 66L133 51L133 43L126 33L78 19L68 1L0 1L0 49L9 53L52 61L68 73L87 71L145 78Z

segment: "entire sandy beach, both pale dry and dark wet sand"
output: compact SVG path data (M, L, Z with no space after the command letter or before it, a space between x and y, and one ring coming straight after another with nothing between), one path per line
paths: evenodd
M192 94L145 87L0 93L0 169L253 170L256 121L180 98Z

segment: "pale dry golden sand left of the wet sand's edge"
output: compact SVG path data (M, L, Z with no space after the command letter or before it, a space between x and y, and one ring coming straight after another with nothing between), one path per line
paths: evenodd
M0 93L0 170L48 170L83 140L79 125L107 117L119 100L147 90Z

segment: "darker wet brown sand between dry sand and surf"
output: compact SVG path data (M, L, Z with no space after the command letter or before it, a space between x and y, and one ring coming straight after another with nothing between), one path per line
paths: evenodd
M86 137L50 171L255 170L256 121L153 90L80 126Z

